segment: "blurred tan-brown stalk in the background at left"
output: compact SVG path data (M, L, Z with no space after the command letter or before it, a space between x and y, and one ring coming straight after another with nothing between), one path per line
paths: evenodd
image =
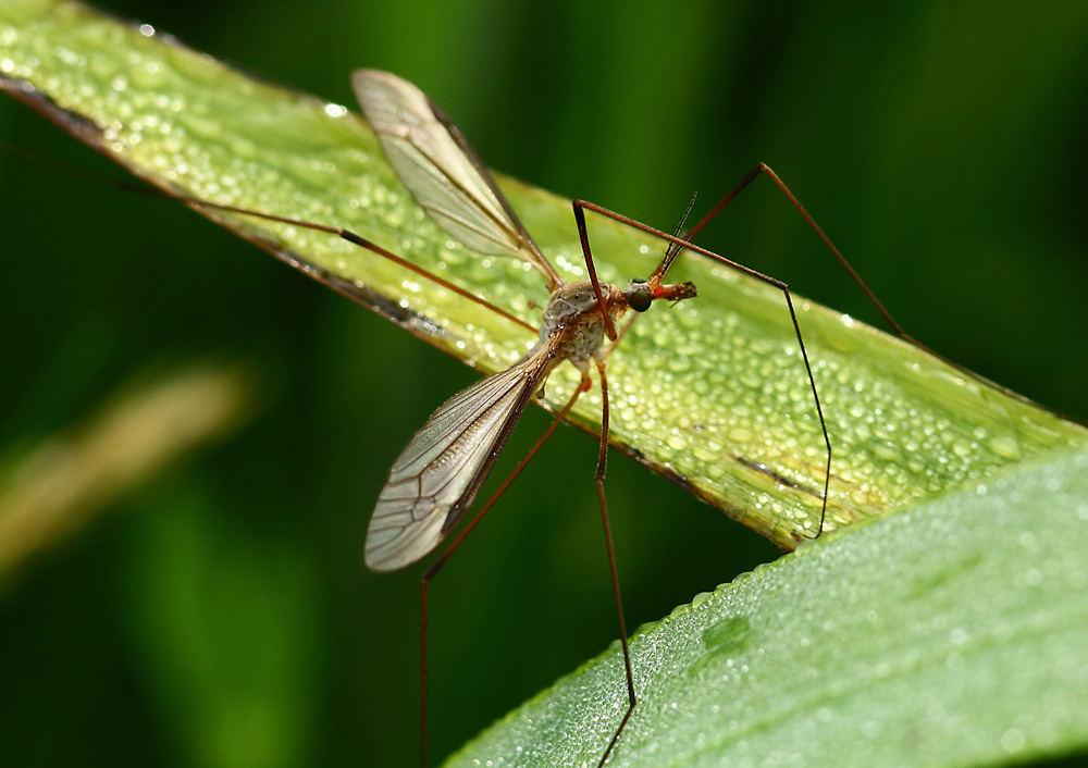
M161 366L158 368L162 368ZM0 586L164 468L222 441L267 399L242 363L149 369L81 423L0 455Z

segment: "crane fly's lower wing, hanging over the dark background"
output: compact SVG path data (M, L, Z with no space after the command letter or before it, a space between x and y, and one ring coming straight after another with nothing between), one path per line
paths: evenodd
M552 359L544 347L455 395L428 419L393 463L378 497L367 531L367 566L403 568L445 538L475 498Z

